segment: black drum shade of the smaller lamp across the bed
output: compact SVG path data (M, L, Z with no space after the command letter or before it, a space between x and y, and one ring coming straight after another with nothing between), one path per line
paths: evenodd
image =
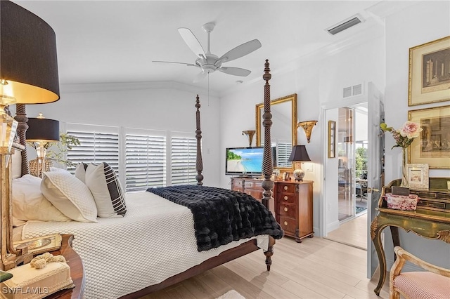
M59 121L54 119L28 119L27 141L59 141Z

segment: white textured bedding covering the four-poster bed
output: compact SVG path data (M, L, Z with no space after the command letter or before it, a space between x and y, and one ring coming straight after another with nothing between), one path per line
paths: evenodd
M98 218L97 223L28 221L22 239L73 234L73 247L84 263L86 299L139 291L249 240L198 252L188 208L150 192L127 194L126 200L124 218ZM266 249L267 236L257 239Z

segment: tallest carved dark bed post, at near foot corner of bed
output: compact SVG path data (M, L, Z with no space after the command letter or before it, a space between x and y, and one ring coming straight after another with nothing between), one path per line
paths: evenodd
M262 174L264 175L264 180L262 181L262 187L264 192L262 193L262 204L269 209L270 201L274 200L273 192L274 182L271 180L272 173L274 172L274 164L272 163L272 152L271 152L271 139L270 139L270 128L272 126L272 114L270 111L270 84L269 80L272 75L270 74L269 60L266 59L264 63L264 74L262 79L266 81L264 84L264 114L262 115L262 125L264 126L264 154L262 158ZM267 271L270 271L270 265L272 264L271 256L274 255L274 244L275 239L269 236L269 248L264 252L266 255L266 265Z

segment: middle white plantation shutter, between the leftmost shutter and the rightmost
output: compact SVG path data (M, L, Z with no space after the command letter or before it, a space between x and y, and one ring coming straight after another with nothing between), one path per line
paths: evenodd
M166 185L166 138L150 134L125 136L126 190Z

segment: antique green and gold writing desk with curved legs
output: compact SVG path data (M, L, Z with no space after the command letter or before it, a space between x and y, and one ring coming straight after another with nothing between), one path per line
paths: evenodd
M390 227L394 246L400 246L399 227L427 239L437 239L450 244L450 190L446 182L450 178L430 178L430 190L410 190L418 194L416 211L401 211L387 208L384 200L392 186L399 186L401 180L393 180L383 187L378 201L378 215L371 224L371 239L380 261L380 279L374 292L380 295L386 279L386 255L381 244L381 232Z

